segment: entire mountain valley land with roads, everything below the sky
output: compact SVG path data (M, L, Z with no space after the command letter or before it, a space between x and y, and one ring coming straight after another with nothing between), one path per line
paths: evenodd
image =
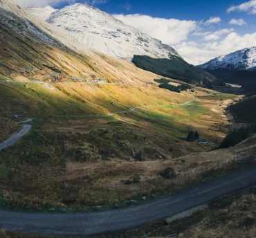
M255 183L254 79L233 85L255 72L255 47L194 66L82 3L2 0L0 23L0 237L196 237L212 210L183 230L158 219Z

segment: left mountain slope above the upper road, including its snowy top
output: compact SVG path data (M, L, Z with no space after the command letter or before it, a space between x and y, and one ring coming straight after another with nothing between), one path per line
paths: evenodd
M142 83L153 82L157 75L131 62L93 53L73 37L4 0L0 1L0 77L46 82L104 78L105 82Z

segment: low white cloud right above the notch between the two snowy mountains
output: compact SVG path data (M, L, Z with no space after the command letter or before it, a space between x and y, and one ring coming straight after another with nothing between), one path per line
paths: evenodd
M184 57L190 64L203 64L220 55L227 55L242 48L255 46L256 33L239 35L237 33L228 34L220 42L209 42L205 44L192 44L183 42L174 46L176 51Z

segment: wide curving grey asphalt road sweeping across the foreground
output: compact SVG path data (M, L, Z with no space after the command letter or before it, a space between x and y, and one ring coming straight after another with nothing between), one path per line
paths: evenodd
M76 214L42 214L0 210L0 227L17 232L71 237L119 232L138 228L151 221L176 214L255 184L256 166L252 166L164 199L131 208Z

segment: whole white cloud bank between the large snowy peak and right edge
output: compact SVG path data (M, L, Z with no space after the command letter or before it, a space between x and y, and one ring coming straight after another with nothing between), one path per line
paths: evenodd
M221 22L220 17L210 17L208 21L180 21L138 14L113 17L173 46L187 62L195 65L219 55L255 46L256 42L256 33L239 35L234 28L207 31L212 25ZM246 24L244 19L232 19L229 23L237 26Z

